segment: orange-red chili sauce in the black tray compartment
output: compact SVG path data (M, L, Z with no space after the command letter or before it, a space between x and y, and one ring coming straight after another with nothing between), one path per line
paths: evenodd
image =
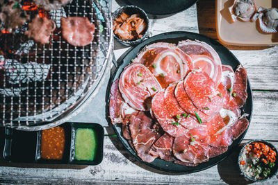
M40 156L42 159L62 159L65 148L65 130L53 127L42 131Z

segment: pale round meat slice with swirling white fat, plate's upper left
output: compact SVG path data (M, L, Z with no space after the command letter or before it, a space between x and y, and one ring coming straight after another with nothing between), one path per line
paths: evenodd
M119 89L122 98L131 107L147 111L151 107L152 96L161 90L161 85L147 67L133 63L122 72Z

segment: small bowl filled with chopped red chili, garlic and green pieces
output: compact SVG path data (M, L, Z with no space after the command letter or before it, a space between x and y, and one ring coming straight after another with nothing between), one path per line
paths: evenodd
M238 166L245 179L252 182L263 182L277 173L277 149L265 140L252 140L241 148Z

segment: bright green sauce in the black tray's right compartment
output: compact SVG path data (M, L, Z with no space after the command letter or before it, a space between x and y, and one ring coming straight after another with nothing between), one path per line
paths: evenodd
M79 128L75 137L75 159L92 161L95 159L97 137L95 130Z

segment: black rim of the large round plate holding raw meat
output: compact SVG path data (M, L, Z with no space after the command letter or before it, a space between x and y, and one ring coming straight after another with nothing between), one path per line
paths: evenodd
M108 82L108 90L107 90L107 94L106 94L106 119L108 121L108 123L110 125L112 125L113 127L113 130L115 131L115 133L117 134L117 137L120 139L120 141L122 142L122 144L124 145L124 147L126 148L126 150L128 150L131 155L133 155L133 157L136 157L136 159L138 159L140 162L142 162L143 164L147 165L147 166L150 166L152 168L155 168L155 169L158 169L158 170L161 170L161 171L164 171L164 172L167 172L167 173L177 173L177 174L187 174L187 173L196 173L196 172L199 172L199 171L202 171L202 170L206 170L208 168L211 168L217 164L219 164L221 161L223 161L224 159L226 159L229 155L231 155L231 152L233 152L236 147L238 147L238 145L241 143L241 141L243 141L243 138L247 132L247 130L249 129L250 127L250 123L251 123L251 120L252 120L252 113L253 113L253 95L252 95L252 87L250 85L250 80L247 76L247 94L248 94L248 97L247 97L247 100L250 99L250 115L248 116L248 121L249 121L249 125L247 127L247 129L245 130L245 132L243 132L243 134L241 134L238 139L234 140L233 143L231 144L231 146L229 146L227 152L224 152L222 155L218 155L217 157L220 157L221 159L219 159L218 161L215 161L213 162L213 164L208 164L207 166L204 166L203 168L201 169L194 169L196 168L197 166L195 167L188 167L186 166L186 168L190 168L190 170L166 170L164 168L161 168L159 166L155 166L154 164L152 163L147 163L145 161L142 161L142 159L140 159L140 157L138 157L138 155L136 154L136 152L129 146L129 144L126 144L126 139L123 138L123 136L121 135L121 132L119 132L117 130L117 127L119 127L118 124L116 125L113 125L111 123L111 119L109 118L109 102L110 102L110 97L111 97L111 94L110 94L110 89L111 89L111 85L113 84L113 82L115 81L115 76L117 76L117 71L122 67L122 65L124 64L124 58L126 58L126 56L129 55L129 53L132 53L133 50L136 50L138 48L139 51L141 51L145 46L149 45L149 44L152 44L154 42L159 42L159 40L161 39L171 39L169 36L170 35L179 35L179 37L188 37L187 35L195 35L197 37L203 37L204 39L206 40L209 40L211 42L211 44L213 44L214 42L214 45L215 44L218 44L218 46L222 47L222 49L226 50L229 55L231 55L232 58L234 58L234 60L236 60L238 62L238 64L241 64L239 62L239 60L236 58L236 56L231 53L231 51L229 51L229 49L227 49L225 46L223 46L222 44L220 44L219 42L215 41L215 39L212 39L210 37L207 37L206 35L202 35L202 34L199 34L199 33L192 33L192 32L187 32L187 31L172 31L172 32L166 32L166 33L161 33L161 34L158 34L158 35L155 35L153 37L150 37L148 39L145 39L145 41L141 42L140 44L138 44L137 46L133 46L133 48L131 48L129 50L129 52L127 53L124 53L124 55L121 56L122 58L122 61L121 63L117 66L117 68L115 69L115 72L113 73L113 75L111 75L111 78ZM167 37L168 36L168 37ZM163 38L164 37L164 38ZM174 38L172 38L174 39ZM202 42L204 42L204 40L201 40ZM215 45L216 46L216 45ZM218 51L216 51L218 53ZM219 53L218 53L219 54ZM136 54L137 55L137 54ZM129 62L130 64L131 62ZM245 105L244 105L245 107ZM215 157L213 157L215 158ZM213 159L211 158L211 159ZM206 164L208 163L209 161L208 160L207 162L205 163L202 163L202 164ZM155 159L155 160L161 160L163 161L162 159ZM172 163L174 164L174 163ZM179 165L179 164L174 164L174 165ZM201 165L201 164L199 164Z

